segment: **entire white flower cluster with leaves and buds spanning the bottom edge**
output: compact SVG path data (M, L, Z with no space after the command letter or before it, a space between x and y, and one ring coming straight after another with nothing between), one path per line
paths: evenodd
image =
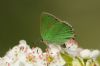
M100 66L99 55L99 50L82 49L73 56L66 48L52 44L43 52L39 47L30 48L25 40L21 40L0 58L0 66Z

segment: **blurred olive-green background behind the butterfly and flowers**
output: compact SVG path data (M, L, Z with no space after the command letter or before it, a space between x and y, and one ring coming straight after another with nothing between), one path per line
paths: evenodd
M0 56L21 39L38 42L44 11L68 21L81 47L100 49L100 0L0 0Z

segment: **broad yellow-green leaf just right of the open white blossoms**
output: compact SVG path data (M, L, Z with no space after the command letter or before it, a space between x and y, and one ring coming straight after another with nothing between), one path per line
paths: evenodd
M66 62L65 66L72 66L73 58L70 55L66 53L61 53L61 56Z

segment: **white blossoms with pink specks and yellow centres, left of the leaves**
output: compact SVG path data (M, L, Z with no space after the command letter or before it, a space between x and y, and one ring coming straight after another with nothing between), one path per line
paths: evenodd
M53 50L57 51L53 48L43 53L39 47L31 49L26 41L21 40L18 46L13 47L0 58L0 66L63 66L65 61Z

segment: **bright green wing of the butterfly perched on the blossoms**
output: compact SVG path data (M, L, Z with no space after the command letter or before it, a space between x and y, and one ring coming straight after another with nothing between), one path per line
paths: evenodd
M74 37L72 27L49 13L42 13L40 32L43 41L53 44L64 44Z

